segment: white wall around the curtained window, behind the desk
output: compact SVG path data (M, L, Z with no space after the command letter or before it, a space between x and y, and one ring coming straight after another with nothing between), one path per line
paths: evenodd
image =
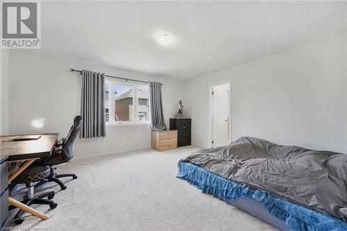
M176 113L177 102L183 94L183 83L170 78L156 78L133 71L105 67L76 59L61 58L35 51L10 51L10 133L42 132L31 126L31 121L44 117L49 132L67 135L72 119L79 114L81 78L69 68L104 71L105 74L156 80L162 85L164 114L169 118ZM75 156L121 153L150 148L149 126L113 126L106 128L107 137L77 139Z

